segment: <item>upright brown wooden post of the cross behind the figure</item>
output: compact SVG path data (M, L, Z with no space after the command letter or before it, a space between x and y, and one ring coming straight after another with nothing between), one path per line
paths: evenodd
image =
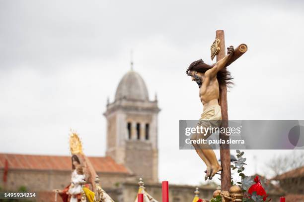
M216 39L220 39L220 51L217 54L217 61L224 58L226 55L225 49L225 35L223 30L216 31ZM225 67L226 68L226 67ZM220 86L220 98L219 104L222 110L222 125L221 127L228 127L228 104L227 104L227 86ZM226 131L226 130L225 130ZM228 136L226 134L220 134L222 140L227 141ZM228 191L230 188L231 170L230 170L230 149L228 144L220 144L221 153L221 166L223 168L221 172L221 189L222 191Z

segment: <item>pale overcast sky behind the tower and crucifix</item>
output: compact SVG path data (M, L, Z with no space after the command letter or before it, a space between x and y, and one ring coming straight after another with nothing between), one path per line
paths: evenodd
M0 0L0 152L70 155L72 127L87 155L103 156L102 113L133 50L134 69L162 109L159 179L203 182L196 152L178 149L178 120L203 110L186 68L212 62L223 29L226 46L248 45L229 66L229 118L304 119L303 10L301 0ZM246 174L266 174L265 162L287 152L247 151Z

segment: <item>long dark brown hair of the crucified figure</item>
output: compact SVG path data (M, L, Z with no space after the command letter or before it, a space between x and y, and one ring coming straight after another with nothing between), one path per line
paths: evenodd
M191 76L190 71L205 73L208 69L213 68L214 65L215 64L212 65L206 64L202 59L199 59L190 64L190 66L186 71L186 74L188 76ZM223 68L218 72L217 79L221 86L227 85L228 87L231 87L233 85L233 82L231 81L233 78L230 76L230 72L228 72L226 68Z

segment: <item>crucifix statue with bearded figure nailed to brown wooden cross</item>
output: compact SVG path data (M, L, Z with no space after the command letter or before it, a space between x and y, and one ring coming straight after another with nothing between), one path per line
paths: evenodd
M186 73L198 84L199 97L204 106L199 125L203 127L228 127L227 86L232 84L232 77L226 67L246 51L245 44L239 45L236 49L230 46L225 56L224 31L217 30L216 40L211 46L211 58L213 59L217 55L217 62L208 65L200 59L192 62L188 67ZM192 135L191 139L207 139L210 135L212 134L196 133ZM228 136L220 134L220 139L227 141ZM209 145L193 144L193 146L207 166L205 180L212 179L215 174L222 171L221 188L227 191L231 180L229 145L220 144L221 165Z

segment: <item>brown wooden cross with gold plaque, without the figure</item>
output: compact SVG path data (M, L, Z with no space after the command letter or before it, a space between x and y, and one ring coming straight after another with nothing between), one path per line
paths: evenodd
M233 61L239 58L242 54L247 51L247 45L241 44L237 48L234 49L233 55L227 62L226 68L230 65ZM224 30L217 30L216 31L216 40L211 46L211 58L217 55L217 61L224 58L226 55L225 50L225 35ZM227 86L226 84L220 86L220 97L219 97L219 104L222 109L222 125L221 127L227 128L228 127L228 104L227 104ZM225 130L226 131L226 130ZM227 140L229 136L225 133L220 134L220 139ZM220 155L221 155L221 166L223 168L221 172L221 189L222 191L228 191L230 188L230 181L231 181L231 170L230 170L230 148L228 144L220 144Z

